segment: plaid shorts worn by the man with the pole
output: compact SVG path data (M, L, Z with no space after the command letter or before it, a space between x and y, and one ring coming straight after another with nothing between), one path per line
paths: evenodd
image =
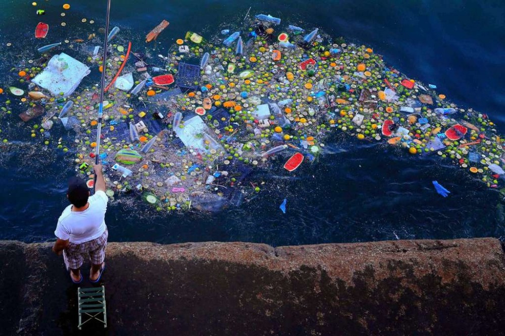
M100 265L105 260L105 247L107 246L107 238L109 231L105 229L102 236L85 242L82 244L69 243L68 247L63 250L63 260L67 269L77 269L82 266L84 257L87 256L91 263Z

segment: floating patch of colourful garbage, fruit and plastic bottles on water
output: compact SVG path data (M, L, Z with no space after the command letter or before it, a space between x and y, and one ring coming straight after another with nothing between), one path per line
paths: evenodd
M21 106L32 138L71 152L92 180L99 85L81 81L105 71L99 159L107 194L131 193L159 210L239 206L268 183L251 178L255 169L275 163L292 176L324 155L332 132L398 146L412 160L439 155L490 188L504 187L501 138L486 114L450 102L370 47L265 14L244 22L215 36L187 32L166 55L150 54L147 43L168 21L140 45L118 42L123 30L115 27L107 64L98 34L73 41L86 50L75 58L62 52L68 44L42 46L39 60L13 68L18 80L0 83L2 124ZM48 137L55 126L75 131L74 142Z

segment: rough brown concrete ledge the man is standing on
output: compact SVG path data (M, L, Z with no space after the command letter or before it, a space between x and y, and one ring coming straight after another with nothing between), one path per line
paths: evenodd
M110 243L106 262L109 327L86 334L505 333L496 239ZM0 264L0 333L78 333L77 287L50 244L0 241Z

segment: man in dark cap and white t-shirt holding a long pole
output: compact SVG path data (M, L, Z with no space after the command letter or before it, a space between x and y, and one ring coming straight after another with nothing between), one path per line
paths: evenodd
M96 174L95 194L89 196L84 180L73 177L68 182L67 198L72 203L58 219L55 235L58 238L53 251L61 255L74 284L82 282L80 268L84 257L91 259L89 281L97 283L105 269L105 247L109 232L105 225L105 212L109 198L102 165L93 166Z

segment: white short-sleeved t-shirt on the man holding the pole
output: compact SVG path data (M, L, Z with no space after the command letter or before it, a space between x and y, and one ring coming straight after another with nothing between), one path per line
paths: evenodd
M89 207L84 211L72 211L72 204L63 210L56 226L56 237L81 244L96 239L105 232L105 212L109 197L98 190L88 198Z

